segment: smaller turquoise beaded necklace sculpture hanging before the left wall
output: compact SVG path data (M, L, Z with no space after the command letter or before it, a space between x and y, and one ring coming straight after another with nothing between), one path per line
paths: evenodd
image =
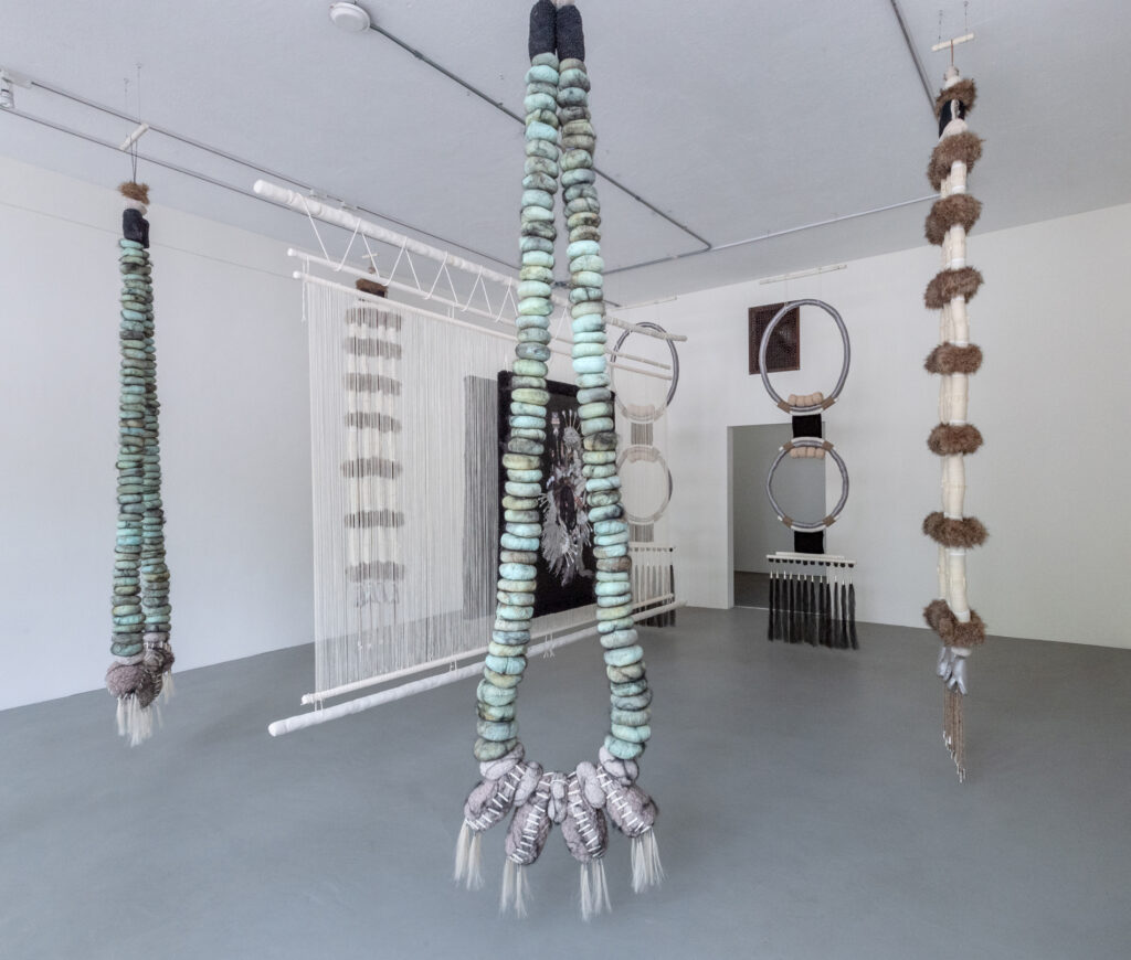
M118 697L118 732L136 747L153 733L155 700L172 687L169 567L161 501L157 359L149 263L149 189L123 183L121 396L118 446L118 539L111 599L114 662L106 689Z

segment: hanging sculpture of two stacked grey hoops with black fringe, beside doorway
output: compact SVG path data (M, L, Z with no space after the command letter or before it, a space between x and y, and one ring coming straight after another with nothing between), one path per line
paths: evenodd
M791 393L783 399L770 383L767 350L770 337L777 325L791 312L802 306L823 309L837 325L844 347L844 364L836 386L828 398L823 393L802 396ZM766 560L770 568L770 610L767 637L789 644L832 647L835 649L857 649L856 636L856 587L853 583L855 560L824 552L824 531L828 530L848 501L848 468L832 444L823 438L821 413L828 410L848 378L852 346L848 329L840 314L823 300L793 300L783 305L762 332L758 344L758 365L762 385L775 404L788 413L793 421L793 439L784 444L770 464L766 477L766 495L774 513L793 531L794 552L769 553ZM840 471L840 499L822 520L808 522L788 516L774 496L774 474L786 457L824 459L828 454Z

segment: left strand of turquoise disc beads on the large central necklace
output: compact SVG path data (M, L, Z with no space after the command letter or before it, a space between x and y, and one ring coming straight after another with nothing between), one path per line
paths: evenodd
M554 277L558 192L558 56L538 53L526 75L526 164L523 177L518 344L511 365L509 429L502 465L495 622L478 687L475 757L498 760L518 744L515 700L526 669L534 617L535 564L542 542L542 453L546 439L546 373Z

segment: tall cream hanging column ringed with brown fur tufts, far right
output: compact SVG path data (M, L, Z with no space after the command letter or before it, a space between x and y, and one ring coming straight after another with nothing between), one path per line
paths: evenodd
M941 194L926 218L926 238L942 247L942 270L927 285L929 309L941 311L939 346L924 366L939 374L939 419L927 447L942 457L942 510L923 521L923 532L939 544L939 599L923 611L942 639L936 672L944 684L943 740L966 778L962 698L966 658L985 642L985 623L966 601L966 551L986 539L982 522L962 513L966 494L965 457L982 446L982 434L968 424L968 377L982 366L982 349L969 342L966 305L982 286L982 274L966 264L966 235L982 213L982 204L966 192L966 174L982 156L982 139L966 126L974 107L973 80L951 66L935 101L939 143L931 155L927 178Z

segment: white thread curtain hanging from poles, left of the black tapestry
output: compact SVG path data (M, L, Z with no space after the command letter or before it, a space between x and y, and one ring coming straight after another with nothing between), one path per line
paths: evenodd
M498 574L498 374L513 340L322 282L303 283L303 306L316 697L329 697L486 645ZM572 382L568 357L553 356L550 378ZM661 396L667 386L622 378L641 391L656 383ZM593 605L575 608L538 618L534 632L594 619Z

